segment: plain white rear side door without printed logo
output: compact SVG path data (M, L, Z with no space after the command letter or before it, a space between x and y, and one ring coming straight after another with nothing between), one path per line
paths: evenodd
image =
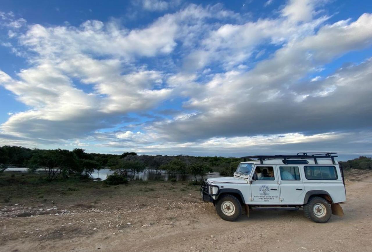
M282 203L303 204L305 187L299 165L277 165Z

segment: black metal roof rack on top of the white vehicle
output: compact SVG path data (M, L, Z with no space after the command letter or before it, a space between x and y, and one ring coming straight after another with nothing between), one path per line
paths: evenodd
M336 164L334 158L337 156L332 155L337 154L337 152L298 152L297 155L258 155L258 156L243 156L242 158L246 161L247 158L257 158L260 159L260 163L263 164L263 160L265 159L283 159L283 163L287 164L287 159L310 159L314 158L315 164L318 164L318 158L330 158L332 160L332 164Z

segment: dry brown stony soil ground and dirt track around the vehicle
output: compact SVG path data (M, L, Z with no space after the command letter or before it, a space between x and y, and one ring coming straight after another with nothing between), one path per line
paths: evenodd
M1 197L10 194L0 203L0 251L371 251L372 176L360 176L348 175L345 216L325 224L302 209L226 222L198 187L180 182L89 182L77 191L60 184L36 193L25 182L0 188Z

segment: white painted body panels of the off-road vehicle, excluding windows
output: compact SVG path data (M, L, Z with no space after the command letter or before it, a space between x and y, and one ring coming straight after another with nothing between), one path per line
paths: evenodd
M308 200L307 195L314 191L323 191L330 196L332 203L340 203L346 200L345 185L343 183L339 164L330 159L306 159L308 164L284 164L283 159L267 159L260 161L248 161L241 163L254 164L252 171L247 175L234 174L234 177L209 178L206 182L212 187L211 197L216 200L219 193L241 194L244 204L248 205L303 205ZM305 166L334 166L337 172L336 180L308 180L305 176ZM252 180L256 167L273 167L274 180ZM297 180L282 180L280 167L297 167L299 178ZM283 168L282 168L283 169ZM203 194L202 194L203 197Z

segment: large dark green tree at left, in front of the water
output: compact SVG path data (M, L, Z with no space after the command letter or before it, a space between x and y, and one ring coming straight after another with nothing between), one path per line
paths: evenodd
M76 156L68 150L43 150L35 153L29 161L32 170L44 168L48 175L48 180L52 181L61 174L67 177L70 172L81 173Z

